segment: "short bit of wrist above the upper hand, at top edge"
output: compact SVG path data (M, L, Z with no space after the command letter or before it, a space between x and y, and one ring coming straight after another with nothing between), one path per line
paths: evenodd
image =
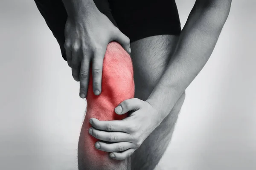
M93 0L62 0L68 16L77 17L79 14L86 15L97 9Z

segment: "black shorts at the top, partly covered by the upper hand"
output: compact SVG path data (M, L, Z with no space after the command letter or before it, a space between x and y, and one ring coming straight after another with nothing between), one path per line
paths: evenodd
M179 35L180 19L175 0L94 0L97 8L122 31L130 42L154 35ZM62 57L67 12L62 0L35 0L48 27L57 39Z

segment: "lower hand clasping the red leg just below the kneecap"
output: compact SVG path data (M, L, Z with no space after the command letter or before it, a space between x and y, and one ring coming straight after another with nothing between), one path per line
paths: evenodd
M147 101L137 98L127 99L115 108L115 112L119 115L128 111L131 114L122 120L90 119L93 127L89 129L89 133L101 140L95 143L95 147L110 152L109 156L116 160L131 156L161 122L157 109Z

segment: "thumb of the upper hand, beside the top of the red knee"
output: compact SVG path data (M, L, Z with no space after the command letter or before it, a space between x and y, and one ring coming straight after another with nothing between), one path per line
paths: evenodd
M123 34L118 28L116 28L113 40L119 42L119 44L122 45L125 51L131 54L130 39L125 34Z

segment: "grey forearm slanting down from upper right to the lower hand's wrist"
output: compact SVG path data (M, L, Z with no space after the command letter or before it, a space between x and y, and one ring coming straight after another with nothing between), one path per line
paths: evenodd
M164 119L208 61L227 20L231 0L196 0L175 54L147 102ZM170 102L171 101L171 102Z

